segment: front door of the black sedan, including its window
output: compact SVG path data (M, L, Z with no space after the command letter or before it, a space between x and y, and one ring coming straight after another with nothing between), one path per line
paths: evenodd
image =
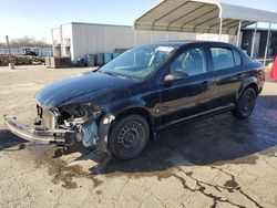
M214 82L203 48L184 50L170 64L168 71L170 73L179 71L187 77L173 82L162 80L158 106L161 127L183 122L212 110Z

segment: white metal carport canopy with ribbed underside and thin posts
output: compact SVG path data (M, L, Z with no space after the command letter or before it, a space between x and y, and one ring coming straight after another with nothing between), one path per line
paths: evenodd
M263 2L260 2L263 3ZM135 30L175 31L194 33L237 34L240 29L257 22L269 23L264 64L267 59L271 23L277 23L277 13L256 10L211 0L163 0L134 22ZM256 32L256 30L255 30ZM253 44L256 34L254 33ZM252 48L254 50L254 48ZM253 54L253 52L252 52Z

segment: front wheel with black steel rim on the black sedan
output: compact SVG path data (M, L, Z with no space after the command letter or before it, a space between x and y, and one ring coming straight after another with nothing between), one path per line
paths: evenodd
M129 160L138 156L150 139L150 127L141 115L116 121L109 135L109 148L114 158Z

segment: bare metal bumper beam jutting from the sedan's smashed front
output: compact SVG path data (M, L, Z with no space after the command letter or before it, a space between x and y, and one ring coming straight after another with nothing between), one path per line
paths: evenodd
M19 123L14 116L3 115L6 126L17 136L35 144L72 144L75 132L68 129L45 129Z

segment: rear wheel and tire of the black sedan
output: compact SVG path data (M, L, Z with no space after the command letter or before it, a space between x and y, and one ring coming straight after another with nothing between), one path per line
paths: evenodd
M256 105L257 94L254 89L246 89L238 98L232 114L238 119L246 119L252 115Z

